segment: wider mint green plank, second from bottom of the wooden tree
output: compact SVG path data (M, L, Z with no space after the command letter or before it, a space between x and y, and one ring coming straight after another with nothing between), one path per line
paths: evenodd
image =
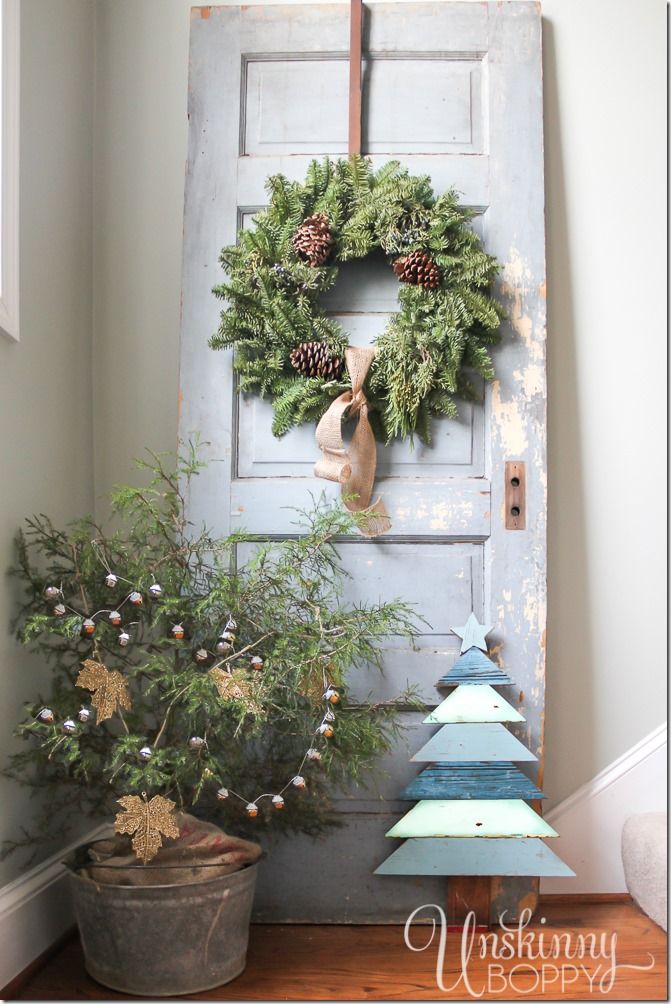
M520 798L422 800L387 836L558 836Z

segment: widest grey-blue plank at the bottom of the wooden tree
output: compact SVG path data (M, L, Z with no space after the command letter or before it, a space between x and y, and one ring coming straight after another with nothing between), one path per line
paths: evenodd
M411 837L377 875L575 875L537 837Z

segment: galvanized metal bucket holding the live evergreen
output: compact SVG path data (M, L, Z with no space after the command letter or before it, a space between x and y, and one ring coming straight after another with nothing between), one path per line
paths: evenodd
M172 997L245 968L256 864L183 886L111 886L66 863L86 972L103 986Z

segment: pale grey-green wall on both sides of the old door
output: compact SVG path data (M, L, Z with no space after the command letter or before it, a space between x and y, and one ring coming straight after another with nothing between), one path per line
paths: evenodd
M23 0L22 341L0 342L3 566L25 513L78 514L145 447L175 445L189 7ZM666 7L545 0L543 16L552 804L665 717L665 365L651 360L666 330ZM5 623L11 606L0 579ZM4 635L0 653L7 747L39 670ZM28 808L2 793L4 834Z

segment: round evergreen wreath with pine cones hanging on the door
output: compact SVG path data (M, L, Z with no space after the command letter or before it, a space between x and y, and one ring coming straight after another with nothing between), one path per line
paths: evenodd
M490 296L498 263L469 226L475 213L454 190L436 197L428 177L397 161L374 171L362 157L312 161L305 182L274 175L270 204L225 247L225 300L212 348L234 346L239 390L270 398L273 433L316 422L350 388L347 333L319 295L341 262L387 255L399 310L376 341L365 392L376 436L430 442L432 416L457 416L476 398L474 373L491 380L489 346L504 312Z

